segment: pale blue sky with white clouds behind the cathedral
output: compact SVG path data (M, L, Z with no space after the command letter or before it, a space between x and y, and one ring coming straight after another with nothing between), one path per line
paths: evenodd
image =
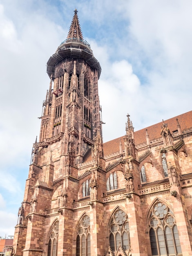
M102 68L104 142L125 135L127 113L136 131L192 110L191 0L0 0L2 237L14 235L49 89L46 64L74 9Z

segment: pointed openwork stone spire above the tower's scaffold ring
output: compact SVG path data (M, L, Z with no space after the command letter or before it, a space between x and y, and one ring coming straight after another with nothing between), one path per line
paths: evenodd
M79 24L79 20L78 20L78 16L77 13L78 11L75 9L74 11L74 17L73 20L71 22L71 27L69 29L69 34L67 36L67 39L79 39L83 41L83 35L81 32L81 28L80 28L80 24Z

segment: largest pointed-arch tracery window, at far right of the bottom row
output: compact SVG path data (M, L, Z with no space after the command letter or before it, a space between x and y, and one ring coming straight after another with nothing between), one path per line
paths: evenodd
M163 202L158 201L152 207L149 229L153 256L182 253L174 214Z

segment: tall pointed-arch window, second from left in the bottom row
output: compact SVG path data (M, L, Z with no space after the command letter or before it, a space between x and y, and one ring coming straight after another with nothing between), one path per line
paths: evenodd
M88 215L83 216L77 229L76 256L91 256L90 218Z

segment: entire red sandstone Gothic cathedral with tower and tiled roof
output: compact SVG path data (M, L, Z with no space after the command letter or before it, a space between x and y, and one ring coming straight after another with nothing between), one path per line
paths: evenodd
M192 111L103 143L101 67L77 10L47 62L15 256L192 256ZM123 125L123 124L122 124Z

